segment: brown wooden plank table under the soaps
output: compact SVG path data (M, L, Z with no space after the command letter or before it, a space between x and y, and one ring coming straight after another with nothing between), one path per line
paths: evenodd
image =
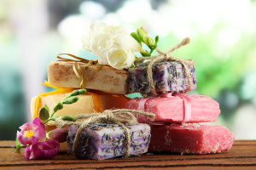
M24 149L15 152L15 141L0 141L0 169L232 169L256 170L256 140L237 140L232 149L212 155L145 154L103 161L77 160L58 154L52 160L26 161Z

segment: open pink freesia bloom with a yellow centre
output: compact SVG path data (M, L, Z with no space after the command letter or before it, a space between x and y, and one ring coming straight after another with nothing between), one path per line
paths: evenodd
M36 117L32 123L27 122L20 127L21 131L17 131L17 138L20 144L29 145L43 142L46 137L44 123Z

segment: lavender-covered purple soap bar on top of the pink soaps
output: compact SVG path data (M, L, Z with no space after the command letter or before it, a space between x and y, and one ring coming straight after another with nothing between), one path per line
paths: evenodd
M186 59L191 76L191 89L196 88L194 61ZM181 93L189 87L188 77L184 74L183 65L178 62L158 62L153 65L153 81L156 92ZM148 86L147 64L129 69L128 88L130 93L150 94Z

